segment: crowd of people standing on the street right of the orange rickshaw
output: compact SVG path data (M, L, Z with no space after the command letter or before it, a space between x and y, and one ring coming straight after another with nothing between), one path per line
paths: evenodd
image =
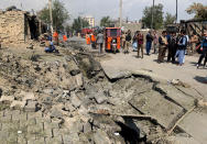
M126 38L129 34L131 34L130 31L127 33L122 33L121 41L122 41L122 47L126 51L128 51L130 38ZM207 32L204 33L204 38L200 45L200 57L197 63L197 67L201 65L203 59L205 58L204 66L207 63ZM164 63L165 55L167 53L167 63L177 64L179 66L184 65L185 63L185 55L192 55L196 52L197 47L199 46L199 38L194 33L190 37L186 34L184 30L181 30L179 33L172 32L167 33L166 31L163 31L162 34L159 36L156 31L150 31L148 32L145 36L145 52L146 55L150 56L151 49L153 47L153 54L159 53L157 56L157 63ZM144 53L144 36L140 31L137 31L134 33L134 36L132 38L132 47L133 51L138 51L138 57L143 58ZM140 56L141 52L141 56ZM177 62L176 62L177 58Z

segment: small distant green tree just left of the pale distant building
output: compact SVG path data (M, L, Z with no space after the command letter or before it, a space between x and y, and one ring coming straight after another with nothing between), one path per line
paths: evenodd
M81 32L83 27L88 27L88 26L89 26L89 23L86 20L78 16L77 19L74 19L72 29L79 33Z

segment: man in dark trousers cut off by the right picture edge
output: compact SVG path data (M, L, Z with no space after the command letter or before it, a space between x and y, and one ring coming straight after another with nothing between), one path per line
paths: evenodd
M204 58L205 58L204 66L206 65L206 62L207 62L207 32L204 32L204 40L203 40L201 45L200 45L200 51L201 51L201 55L199 57L197 68L199 68L201 60Z

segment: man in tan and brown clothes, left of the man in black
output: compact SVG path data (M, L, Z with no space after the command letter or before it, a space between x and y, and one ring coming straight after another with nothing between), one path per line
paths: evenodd
M162 35L159 37L159 63L163 63L164 62L164 57L166 54L166 48L167 48L167 38L166 38L166 31L162 32Z

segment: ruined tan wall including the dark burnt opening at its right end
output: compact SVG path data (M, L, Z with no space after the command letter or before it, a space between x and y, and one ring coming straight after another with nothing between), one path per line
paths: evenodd
M46 25L25 11L0 11L0 36L4 45L37 40L45 32Z

